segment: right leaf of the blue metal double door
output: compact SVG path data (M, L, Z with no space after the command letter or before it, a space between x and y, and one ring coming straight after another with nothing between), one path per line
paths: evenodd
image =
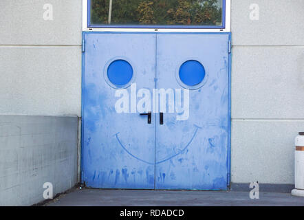
M201 63L206 80L202 87L190 91L188 120L176 120L177 113L164 113L161 125L157 116L157 189L227 188L229 38L229 34L157 36L157 88L182 89L178 72L186 61Z

